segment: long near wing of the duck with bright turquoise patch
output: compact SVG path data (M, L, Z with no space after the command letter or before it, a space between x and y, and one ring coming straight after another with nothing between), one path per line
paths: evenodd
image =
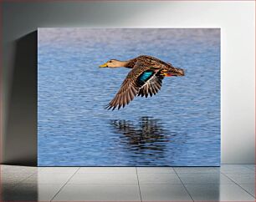
M126 104L129 104L136 97L140 88L158 71L158 68L148 67L137 61L134 68L131 69L131 72L127 74L124 82L121 84L120 90L115 94L115 98L110 101L110 104L105 109L114 110L115 108L125 107Z

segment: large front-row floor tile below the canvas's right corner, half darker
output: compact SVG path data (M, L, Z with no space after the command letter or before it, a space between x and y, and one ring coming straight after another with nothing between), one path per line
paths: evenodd
M237 184L185 184L195 201L254 201Z

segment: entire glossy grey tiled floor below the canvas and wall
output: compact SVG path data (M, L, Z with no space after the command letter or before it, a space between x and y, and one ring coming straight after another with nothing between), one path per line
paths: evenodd
M1 201L255 201L254 169L1 165Z

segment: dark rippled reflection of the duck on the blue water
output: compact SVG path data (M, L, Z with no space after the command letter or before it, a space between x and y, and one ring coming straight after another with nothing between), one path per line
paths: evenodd
M112 120L115 134L121 134L121 144L127 144L128 149L154 154L153 151L163 151L169 142L167 131L160 119L141 117L138 124L127 120Z

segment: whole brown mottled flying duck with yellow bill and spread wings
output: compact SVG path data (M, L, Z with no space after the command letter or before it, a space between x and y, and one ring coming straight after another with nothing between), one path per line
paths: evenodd
M171 63L165 63L160 59L141 55L129 61L119 61L111 59L107 63L100 65L100 68L132 68L128 73L124 82L121 84L120 90L116 93L106 109L120 109L129 104L136 96L146 98L148 95L158 93L161 89L162 79L166 76L184 76L182 68L175 68ZM146 77L143 74L146 73ZM149 75L149 76L148 76Z

